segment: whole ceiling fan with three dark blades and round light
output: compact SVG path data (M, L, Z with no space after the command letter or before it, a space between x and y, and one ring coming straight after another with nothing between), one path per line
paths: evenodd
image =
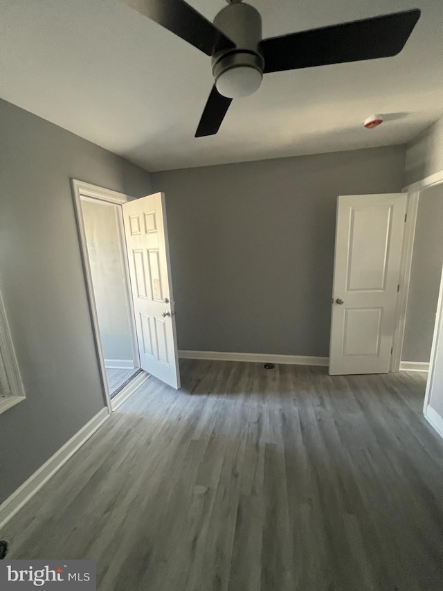
M125 0L212 58L215 85L196 137L216 134L233 98L253 94L263 74L397 55L420 17L404 10L262 39L260 12L227 1L211 23L185 0Z

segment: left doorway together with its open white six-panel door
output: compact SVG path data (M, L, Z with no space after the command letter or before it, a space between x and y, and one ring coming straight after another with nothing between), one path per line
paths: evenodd
M165 195L133 199L75 179L72 184L93 335L111 412L149 376L180 387Z

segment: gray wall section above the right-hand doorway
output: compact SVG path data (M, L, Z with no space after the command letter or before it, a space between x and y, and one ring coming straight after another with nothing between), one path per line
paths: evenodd
M439 173L440 170L443 170L443 117L408 143L405 185Z

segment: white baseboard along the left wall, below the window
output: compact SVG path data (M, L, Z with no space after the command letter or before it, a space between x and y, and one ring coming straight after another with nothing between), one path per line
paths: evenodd
M21 509L24 504L30 500L31 497L42 488L46 482L60 470L66 461L69 460L75 452L81 448L83 443L91 437L91 435L98 430L99 427L109 418L109 411L103 408L91 418L84 427L80 429L69 441L66 441L64 446L60 448L55 454L46 461L43 466L31 475L26 482L24 482L17 491L12 493L0 505L0 529Z

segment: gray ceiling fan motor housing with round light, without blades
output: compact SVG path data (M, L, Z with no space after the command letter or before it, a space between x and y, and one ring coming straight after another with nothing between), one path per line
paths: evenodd
M260 12L249 4L233 3L217 14L214 24L236 44L234 49L221 49L213 55L213 76L217 89L220 91L220 87L223 88L222 77L224 80L234 77L236 73L233 70L237 70L243 79L251 78L249 86L238 88L237 96L252 94L260 86L264 69L264 59L258 49L262 40Z

